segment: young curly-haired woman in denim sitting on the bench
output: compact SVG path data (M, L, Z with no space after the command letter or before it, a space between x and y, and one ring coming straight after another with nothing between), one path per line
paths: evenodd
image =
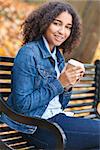
M18 113L58 123L67 137L68 150L99 147L100 122L70 117L63 111L84 68L65 66L60 49L70 52L79 45L80 37L80 18L70 4L49 2L33 11L23 24L23 46L15 58L12 92L7 101ZM43 149L51 147L45 131L18 124L5 115L1 119L28 133L30 139L35 137Z

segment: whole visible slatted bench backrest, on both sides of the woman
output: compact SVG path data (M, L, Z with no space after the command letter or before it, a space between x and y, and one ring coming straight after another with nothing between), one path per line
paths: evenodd
M14 58L0 57L0 96L5 100L11 92L13 62ZM85 64L85 69L85 76L73 88L66 111L73 111L76 117L96 118L96 106L100 101L100 60L95 64Z

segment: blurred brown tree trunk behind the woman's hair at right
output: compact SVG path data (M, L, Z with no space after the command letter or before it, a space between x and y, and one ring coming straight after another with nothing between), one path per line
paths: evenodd
M71 1L79 10L83 21L83 37L80 46L73 50L72 56L77 60L90 63L100 41L100 1ZM65 56L67 57L67 55Z

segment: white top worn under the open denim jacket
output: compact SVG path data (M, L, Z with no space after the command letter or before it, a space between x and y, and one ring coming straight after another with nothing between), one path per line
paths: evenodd
M53 53L51 53L49 45L48 45L47 40L45 39L45 37L43 37L43 40L44 40L45 46L47 47L47 49L50 52L53 59L55 60L55 71L57 72L57 79L58 79L59 76L60 76L60 71L59 71L59 68L58 68L58 65L57 65L56 47L54 48ZM53 117L53 116L55 116L56 114L59 114L59 113L65 113L65 114L70 113L69 115L72 114L71 112L63 112L63 110L61 109L61 104L59 102L59 95L57 95L49 102L49 105L46 108L45 112L43 113L42 118L48 119L48 118L51 118L51 117Z

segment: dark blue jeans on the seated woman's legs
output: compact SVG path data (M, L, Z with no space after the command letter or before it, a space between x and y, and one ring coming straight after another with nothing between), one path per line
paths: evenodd
M100 121L92 119L83 119L68 117L65 114L58 114L50 119L51 122L56 122L65 132L67 137L66 150L99 150L100 146ZM33 135L26 135L31 142L49 149L55 145L55 140L43 129L37 129Z

